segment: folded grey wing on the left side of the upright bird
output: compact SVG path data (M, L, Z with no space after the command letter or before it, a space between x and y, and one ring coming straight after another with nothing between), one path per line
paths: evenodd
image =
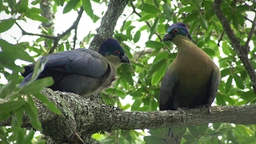
M160 88L160 110L170 110L170 99L173 96L175 84L178 81L178 72L170 65L162 79Z

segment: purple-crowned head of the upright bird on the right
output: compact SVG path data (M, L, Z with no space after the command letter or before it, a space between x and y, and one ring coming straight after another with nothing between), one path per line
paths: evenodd
M183 38L189 38L191 40L189 31L186 29L186 25L182 22L174 23L168 28L167 33L163 36L163 42L173 41L177 36L182 36Z

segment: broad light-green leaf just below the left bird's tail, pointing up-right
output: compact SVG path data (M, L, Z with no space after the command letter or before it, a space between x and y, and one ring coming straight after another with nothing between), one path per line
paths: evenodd
M52 86L53 84L53 78L41 78L23 87L22 90L19 91L19 94L37 94L40 90L42 90L42 88Z

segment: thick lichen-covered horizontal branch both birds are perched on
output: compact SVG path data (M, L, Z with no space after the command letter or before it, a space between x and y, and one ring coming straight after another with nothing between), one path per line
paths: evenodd
M153 112L122 111L106 106L97 98L81 98L77 94L42 90L54 102L62 114L53 114L38 100L38 117L42 122L42 133L50 135L55 142L74 142L77 134L86 139L90 134L110 130L157 129L167 126L199 126L206 123L230 122L235 124L256 124L256 105L213 106L212 113L202 109L166 110ZM10 119L0 122L10 126ZM23 126L30 128L29 118L24 115ZM77 134L76 134L77 133Z

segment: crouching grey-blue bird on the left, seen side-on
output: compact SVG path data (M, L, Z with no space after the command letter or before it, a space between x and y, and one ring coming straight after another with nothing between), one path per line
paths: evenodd
M129 63L118 40L107 38L98 53L89 49L75 49L49 54L41 58L46 66L38 78L52 77L52 90L60 90L86 96L106 89L115 80L116 69L122 62ZM34 64L25 66L20 87L26 86L32 77Z

